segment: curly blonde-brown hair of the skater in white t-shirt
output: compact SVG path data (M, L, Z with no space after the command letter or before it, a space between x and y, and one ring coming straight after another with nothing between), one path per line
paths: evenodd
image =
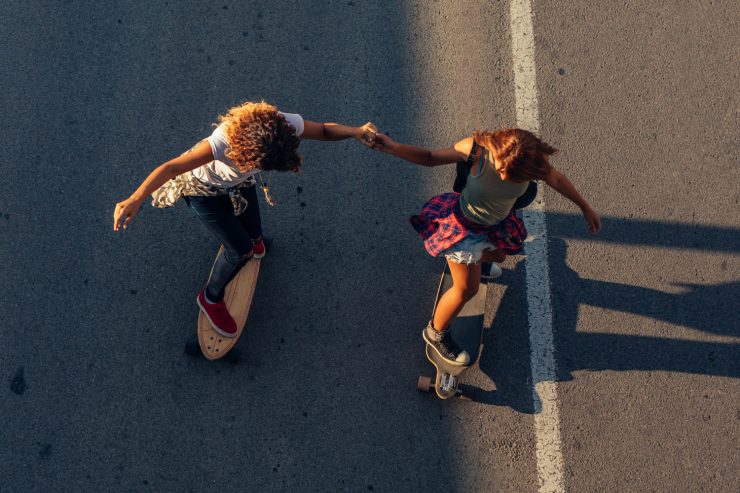
M226 156L242 173L264 171L298 171L300 140L295 128L285 121L275 106L264 101L246 102L230 108L218 117L229 141Z

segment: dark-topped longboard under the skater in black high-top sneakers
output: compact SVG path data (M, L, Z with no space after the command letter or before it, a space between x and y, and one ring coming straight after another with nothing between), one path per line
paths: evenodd
M434 300L434 311L437 310L437 303L445 291L452 287L452 274L445 263L445 269L439 280L437 296ZM459 376L465 370L473 366L480 357L483 340L483 318L486 311L486 295L488 294L488 285L481 282L476 295L468 301L460 310L460 313L452 321L451 337L470 355L470 362L467 365L452 365L445 362L437 352L428 344L424 343L424 351L427 359L436 369L434 382L431 378L419 377L418 388L422 391L429 391L434 387L434 391L440 399L449 399L450 397L461 395L458 389ZM434 311L432 317L434 317Z

